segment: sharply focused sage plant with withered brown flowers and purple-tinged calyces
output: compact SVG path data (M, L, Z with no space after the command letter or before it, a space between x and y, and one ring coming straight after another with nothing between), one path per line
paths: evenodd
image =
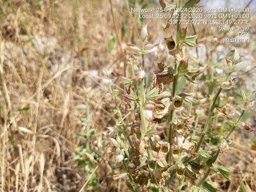
M173 3L167 3L165 0L159 0L162 8L174 8L177 6ZM189 0L183 6L179 0L178 8L181 7L198 7L199 0ZM180 14L180 12L179 12ZM179 17L180 18L180 17ZM169 21L168 21L169 22ZM165 26L166 30L170 26ZM132 69L132 78L122 77L122 84L125 85L125 98L129 110L134 110L135 120L131 126L127 126L122 119L121 110L116 102L117 95L114 95L111 89L110 74L107 74L105 82L108 83L110 95L114 99L119 114L120 122L115 127L109 128L115 133L116 138L110 138L112 144L116 147L116 161L122 164L122 170L114 175L114 180L129 177L128 187L131 191L138 192L140 188L148 188L153 192L172 192L180 191L185 188L190 192L216 192L217 183L207 181L209 174L220 172L222 176L231 180L229 168L221 165L215 165L219 154L227 153L228 146L232 143L229 136L236 127L252 131L248 122L241 122L246 110L254 104L250 101L252 94L246 94L241 90L244 99L243 110L241 114L229 114L225 105L220 105L219 99L222 90L228 90L234 87L232 73L239 71L241 68L251 65L252 63L242 61L240 53L234 48L234 53L230 59L225 58L228 66L227 76L217 86L217 92L212 97L207 119L204 128L200 131L197 124L200 118L200 105L194 97L199 95L196 91L190 93L177 93L179 78L184 76L188 83L193 85L197 77L203 72L200 67L191 67L186 53L187 46L197 47L198 34L187 36L187 28L182 28L177 22L176 36L165 38L166 48L169 55L173 56L174 67L170 63L158 63L158 71L151 71L153 74L150 90L146 92L144 87L147 67L145 57L148 53L158 50L159 43L146 43L148 37L147 25L142 26L141 39L142 46L138 47L133 44L127 44L127 49L134 55L140 55L141 65L138 74L135 75L133 59L130 59ZM212 68L213 70L213 68ZM168 89L167 85L172 89ZM197 96L199 97L199 96ZM189 103L188 114L176 114L185 103ZM191 112L191 105L198 105L196 114ZM224 116L232 119L233 126L229 132L220 139L217 147L205 147L206 137L216 137L215 117ZM158 130L158 125L168 122L164 140L153 142L152 137L160 134L165 130ZM130 146L127 148L126 140ZM204 176L200 176L205 172ZM174 177L179 179L179 184L175 185Z

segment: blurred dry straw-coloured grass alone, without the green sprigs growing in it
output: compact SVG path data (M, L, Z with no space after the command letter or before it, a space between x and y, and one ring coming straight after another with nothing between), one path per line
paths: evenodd
M121 6L114 3L119 28L123 22ZM129 191L124 179L111 183L112 147L101 145L112 137L105 127L117 118L111 113L112 101L103 98L108 90L101 82L102 71L112 67L116 85L123 74L118 43L111 53L107 51L114 33L109 1L7 0L0 2L0 8L0 191L79 192L83 186L86 191L89 180L72 155L75 146L85 142L74 136L83 131L80 119L86 117L81 107L85 95L79 87L89 86L93 88L86 97L91 129L95 130L91 147L102 153L95 163L101 188ZM123 10L122 14L129 16ZM134 25L129 22L122 42L130 43ZM150 24L149 31L161 31L164 23L158 20L156 27ZM158 41L158 35L162 32L156 32L149 41ZM151 60L150 65L156 67L154 58ZM125 107L121 99L118 104ZM236 169L232 175L235 183L221 176L210 178L218 180L226 192L236 191L240 182L248 192L256 191L256 153L248 139L233 138L234 145L219 163Z

